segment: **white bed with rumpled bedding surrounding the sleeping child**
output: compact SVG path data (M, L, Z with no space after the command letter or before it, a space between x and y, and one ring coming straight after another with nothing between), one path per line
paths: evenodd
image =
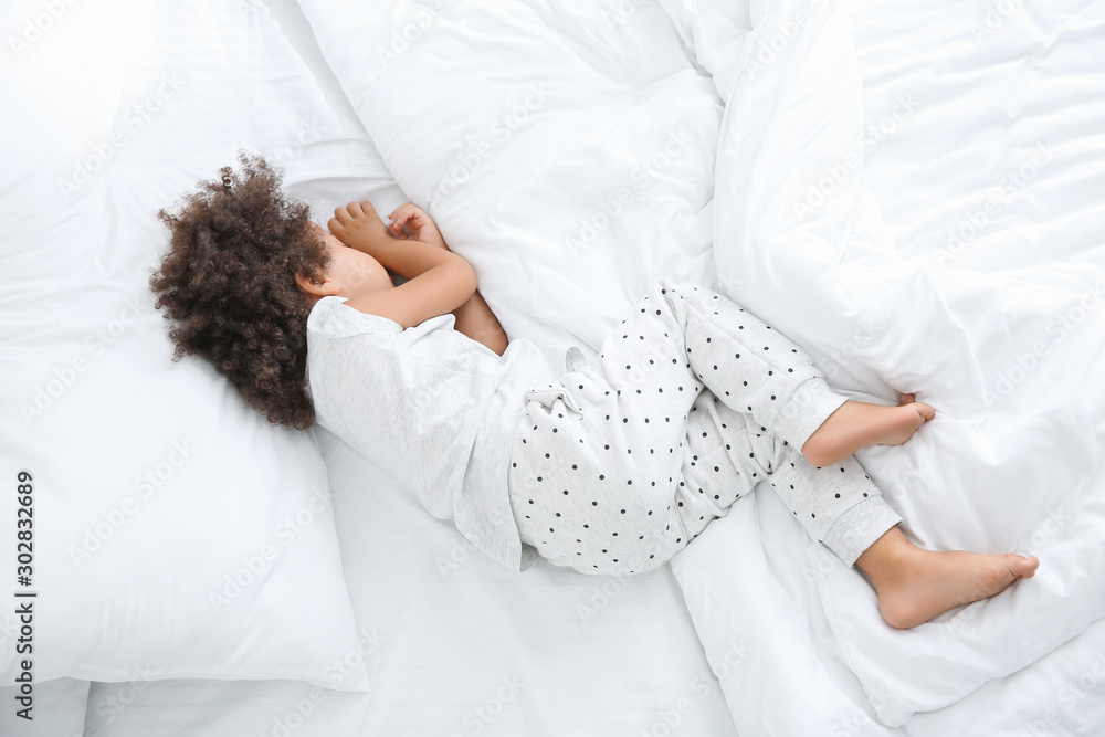
M0 734L1105 730L1101 7L0 18ZM506 570L325 430L169 360L155 213L242 147L323 222L423 207L512 337L593 352L663 275L853 398L916 391L937 420L859 456L907 531L1040 572L895 631L769 489L646 575Z

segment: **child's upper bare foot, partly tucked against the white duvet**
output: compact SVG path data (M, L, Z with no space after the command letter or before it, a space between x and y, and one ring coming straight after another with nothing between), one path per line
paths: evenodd
M813 431L802 455L818 467L832 465L867 445L901 445L917 428L936 417L936 410L898 394L897 407L848 400Z

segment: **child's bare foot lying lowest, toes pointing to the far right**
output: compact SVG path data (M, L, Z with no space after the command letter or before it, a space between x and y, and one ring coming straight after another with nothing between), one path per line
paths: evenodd
M1040 561L1015 554L925 550L894 527L855 565L871 578L886 623L905 630L1000 593L1018 578L1032 578Z

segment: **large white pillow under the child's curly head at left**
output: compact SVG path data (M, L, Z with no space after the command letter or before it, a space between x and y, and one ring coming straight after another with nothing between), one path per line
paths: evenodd
M367 177L371 147L260 7L136 9L159 39L145 48L115 22L127 14L93 10L69 8L6 85L28 114L0 143L0 678L28 660L35 684L364 689L314 435L271 427L206 364L171 362L147 280L168 240L154 213L233 164L239 141L287 164L305 194ZM365 183L344 180L355 196ZM25 587L18 507L33 509ZM33 651L18 653L25 603Z

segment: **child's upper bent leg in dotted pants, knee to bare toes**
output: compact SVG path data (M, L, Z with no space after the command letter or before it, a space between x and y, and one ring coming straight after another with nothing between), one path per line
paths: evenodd
M664 281L640 308L683 334L690 369L720 401L750 413L817 465L865 445L905 442L935 414L912 401L884 407L845 400L798 346L708 289Z

